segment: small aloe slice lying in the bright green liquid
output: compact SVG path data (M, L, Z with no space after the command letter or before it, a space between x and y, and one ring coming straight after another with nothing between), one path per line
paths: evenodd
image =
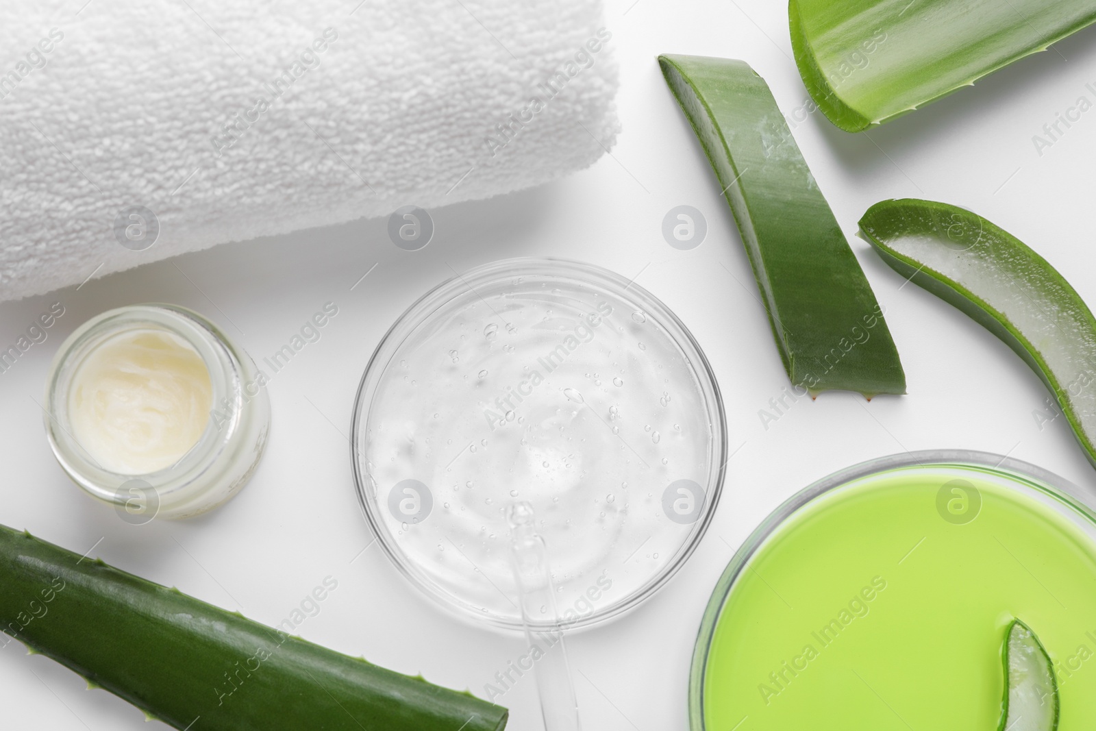
M1005 699L998 731L1054 731L1058 728L1058 683L1050 655L1035 632L1013 620L1002 652Z

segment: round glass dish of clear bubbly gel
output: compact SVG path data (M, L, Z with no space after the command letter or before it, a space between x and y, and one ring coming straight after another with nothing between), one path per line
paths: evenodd
M352 460L396 567L466 617L521 629L507 509L527 501L556 612L589 627L682 566L726 462L715 376L685 325L590 264L515 259L426 294L381 340ZM534 625L551 625L551 610Z

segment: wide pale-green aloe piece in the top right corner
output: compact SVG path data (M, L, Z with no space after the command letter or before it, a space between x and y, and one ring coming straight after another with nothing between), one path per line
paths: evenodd
M790 0L796 65L837 127L912 112L1096 22L1092 0Z

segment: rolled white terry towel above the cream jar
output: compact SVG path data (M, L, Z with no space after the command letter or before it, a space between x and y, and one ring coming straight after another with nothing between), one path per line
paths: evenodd
M585 168L618 126L603 25L600 0L3 0L0 299Z

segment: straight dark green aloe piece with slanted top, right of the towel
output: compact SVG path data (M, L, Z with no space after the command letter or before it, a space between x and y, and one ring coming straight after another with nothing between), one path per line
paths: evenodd
M904 393L882 308L764 79L723 58L659 64L734 214L792 385Z

